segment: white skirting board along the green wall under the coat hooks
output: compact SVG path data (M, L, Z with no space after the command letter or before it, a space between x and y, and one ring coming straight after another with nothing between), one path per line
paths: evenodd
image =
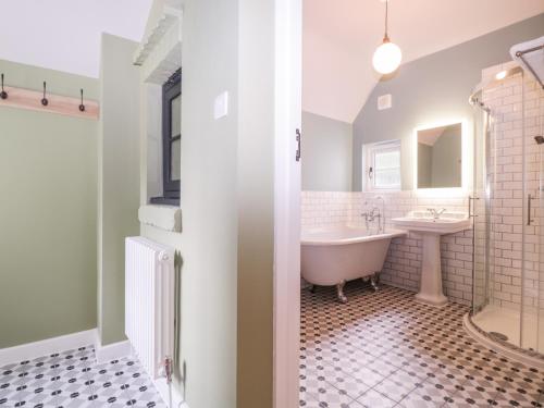
M95 343L96 329L0 349L0 367Z

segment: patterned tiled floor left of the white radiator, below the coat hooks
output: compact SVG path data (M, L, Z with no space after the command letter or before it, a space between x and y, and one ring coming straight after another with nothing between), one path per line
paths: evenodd
M0 408L163 408L139 363L97 364L91 346L0 368Z

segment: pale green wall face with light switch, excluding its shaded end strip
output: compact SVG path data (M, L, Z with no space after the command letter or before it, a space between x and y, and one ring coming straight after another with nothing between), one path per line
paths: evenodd
M183 232L141 225L141 235L183 257L176 386L185 364L187 404L200 408L236 407L237 13L233 0L184 1ZM213 100L224 90L228 116L215 121Z

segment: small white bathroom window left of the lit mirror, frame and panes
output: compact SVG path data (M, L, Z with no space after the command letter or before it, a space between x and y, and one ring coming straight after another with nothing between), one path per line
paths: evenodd
M363 189L400 189L400 140L371 144L362 148L366 158Z

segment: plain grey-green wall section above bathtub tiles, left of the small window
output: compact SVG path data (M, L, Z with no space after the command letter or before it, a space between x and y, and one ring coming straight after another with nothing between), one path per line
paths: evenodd
M350 191L353 126L302 112L302 190Z

